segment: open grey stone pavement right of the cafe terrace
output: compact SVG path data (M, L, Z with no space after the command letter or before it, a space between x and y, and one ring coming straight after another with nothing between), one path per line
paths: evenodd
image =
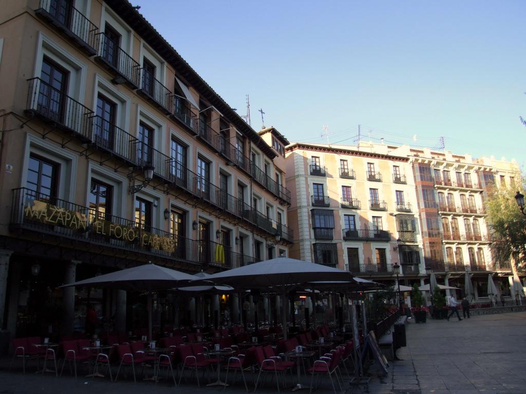
M371 393L526 393L526 312L428 319L408 324L406 334L403 361L372 379Z

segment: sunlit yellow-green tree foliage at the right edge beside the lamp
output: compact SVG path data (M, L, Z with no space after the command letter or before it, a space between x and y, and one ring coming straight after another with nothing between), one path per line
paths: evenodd
M491 190L485 204L494 261L507 262L511 256L517 271L526 270L526 216L519 211L514 196L517 190L526 194L524 186L524 178L516 176L515 185Z

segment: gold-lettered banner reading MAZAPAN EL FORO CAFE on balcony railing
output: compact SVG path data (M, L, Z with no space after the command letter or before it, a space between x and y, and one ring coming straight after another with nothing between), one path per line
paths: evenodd
M89 231L93 234L129 243L139 242L141 246L151 247L163 252L173 253L176 247L173 238L163 237L107 220L94 220L91 222L91 226L88 227L87 214L70 211L43 201L34 200L33 205L28 204L24 210L24 216L28 220L66 227L66 229L70 230L86 232L89 228Z

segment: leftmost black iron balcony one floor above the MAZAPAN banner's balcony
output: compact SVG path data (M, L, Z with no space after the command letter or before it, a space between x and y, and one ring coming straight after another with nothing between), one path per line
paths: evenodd
M31 78L25 112L37 116L54 127L74 134L83 142L92 142L94 112L66 96L40 78Z

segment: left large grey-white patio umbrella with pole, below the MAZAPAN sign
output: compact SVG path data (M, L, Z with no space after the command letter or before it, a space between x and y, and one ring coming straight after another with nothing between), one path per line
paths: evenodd
M60 287L100 287L147 292L148 339L151 340L151 292L187 284L195 279L193 275L150 263L95 276L84 279L84 281L68 283Z

